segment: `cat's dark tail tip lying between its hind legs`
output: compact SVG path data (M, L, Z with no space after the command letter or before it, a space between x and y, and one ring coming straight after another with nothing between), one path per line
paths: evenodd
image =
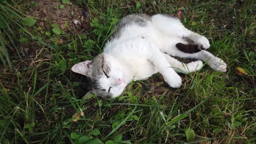
M176 44L176 47L178 50L185 52L185 53L196 53L196 52L200 52L202 50L202 46L197 45L197 44L178 43L178 44Z

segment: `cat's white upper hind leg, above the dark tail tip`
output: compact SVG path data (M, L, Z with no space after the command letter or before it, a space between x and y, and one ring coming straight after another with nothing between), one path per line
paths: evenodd
M195 44L202 45L202 47L205 49L208 49L210 47L209 40L205 36L197 34L185 28L182 22L176 17L158 14L152 16L152 23L162 33L165 33L167 35L176 35L181 38L189 38L193 40Z

